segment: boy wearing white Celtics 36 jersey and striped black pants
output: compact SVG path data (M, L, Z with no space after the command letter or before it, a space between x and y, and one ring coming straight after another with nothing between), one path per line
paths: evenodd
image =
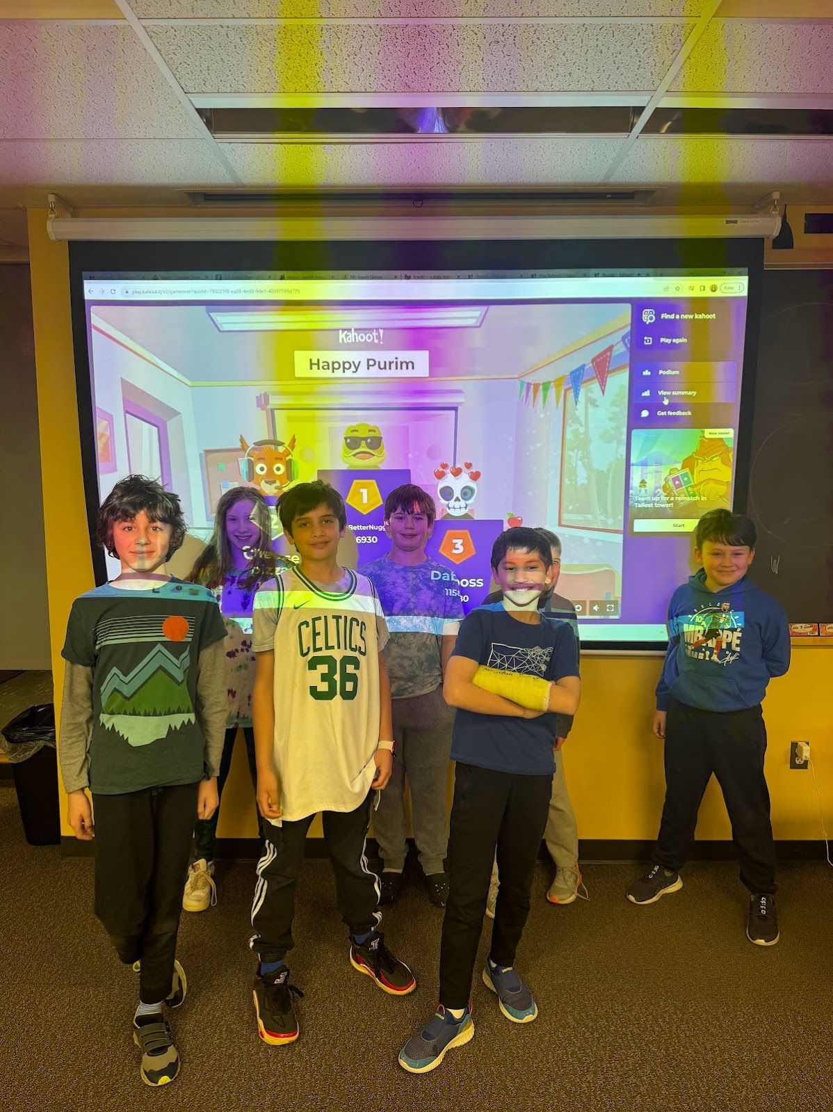
M337 563L347 527L341 495L327 483L299 483L278 513L298 563L254 596L252 718L267 840L250 942L258 1032L274 1046L299 1034L293 997L302 993L289 982L287 954L307 831L319 812L351 965L391 995L416 984L378 930L379 881L364 856L370 808L393 765L381 655L388 626L370 580Z

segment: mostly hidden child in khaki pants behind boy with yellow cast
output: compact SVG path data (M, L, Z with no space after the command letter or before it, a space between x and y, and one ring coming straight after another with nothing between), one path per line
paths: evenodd
M535 533L540 533L546 540L552 553L552 580L550 587L541 593L538 609L546 617L558 618L566 622L575 634L575 644L579 643L579 619L575 607L569 598L555 594L555 585L561 575L561 539L550 529L538 527ZM502 598L500 590L493 590L484 599L486 603L499 603ZM572 729L573 716L571 714L560 714L555 727L558 736L555 738L555 751L559 752L566 741L566 736ZM575 823L575 813L570 802L570 793L566 788L564 776L564 762L555 762L555 772L552 777L552 796L550 797L550 813L546 818L544 830L544 842L550 851L553 864L555 865L555 876L546 893L546 898L553 904L574 903L579 888L582 887L582 877L579 870L579 828ZM500 878L498 875L498 864L495 862L492 870L492 882L489 885L489 900L486 901L486 915L494 919L494 905L498 902L498 886Z

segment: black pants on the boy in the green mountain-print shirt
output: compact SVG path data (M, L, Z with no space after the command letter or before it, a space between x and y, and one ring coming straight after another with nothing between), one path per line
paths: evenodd
M121 961L141 961L139 997L170 994L198 784L93 795L96 914Z

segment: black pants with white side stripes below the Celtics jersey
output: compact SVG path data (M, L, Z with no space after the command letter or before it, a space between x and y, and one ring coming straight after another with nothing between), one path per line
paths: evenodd
M375 929L381 915L379 880L368 868L364 840L373 792L355 811L322 812L324 845L335 873L335 903L351 934ZM313 815L281 826L265 823L267 841L258 862L252 903L254 935L249 945L262 962L277 962L292 949L295 886L303 863L307 831Z

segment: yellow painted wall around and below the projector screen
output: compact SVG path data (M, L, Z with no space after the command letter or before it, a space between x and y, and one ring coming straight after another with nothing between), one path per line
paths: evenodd
M56 709L63 677L61 646L72 599L93 586L87 534L78 406L70 327L68 250L47 236L47 214L29 214L34 344L38 370L47 579ZM565 746L573 804L584 838L651 838L662 806L662 744L650 733L656 658L586 657L584 697ZM797 646L787 676L774 681L765 704L770 736L766 774L776 838L821 836L809 772L789 770L791 741L811 742L825 813L833 815L833 647ZM251 787L238 746L223 796L219 834L257 832ZM62 798L62 811L63 798ZM63 833L71 834L63 820ZM310 834L319 836L317 820ZM701 811L700 837L725 838L729 824L712 783Z

